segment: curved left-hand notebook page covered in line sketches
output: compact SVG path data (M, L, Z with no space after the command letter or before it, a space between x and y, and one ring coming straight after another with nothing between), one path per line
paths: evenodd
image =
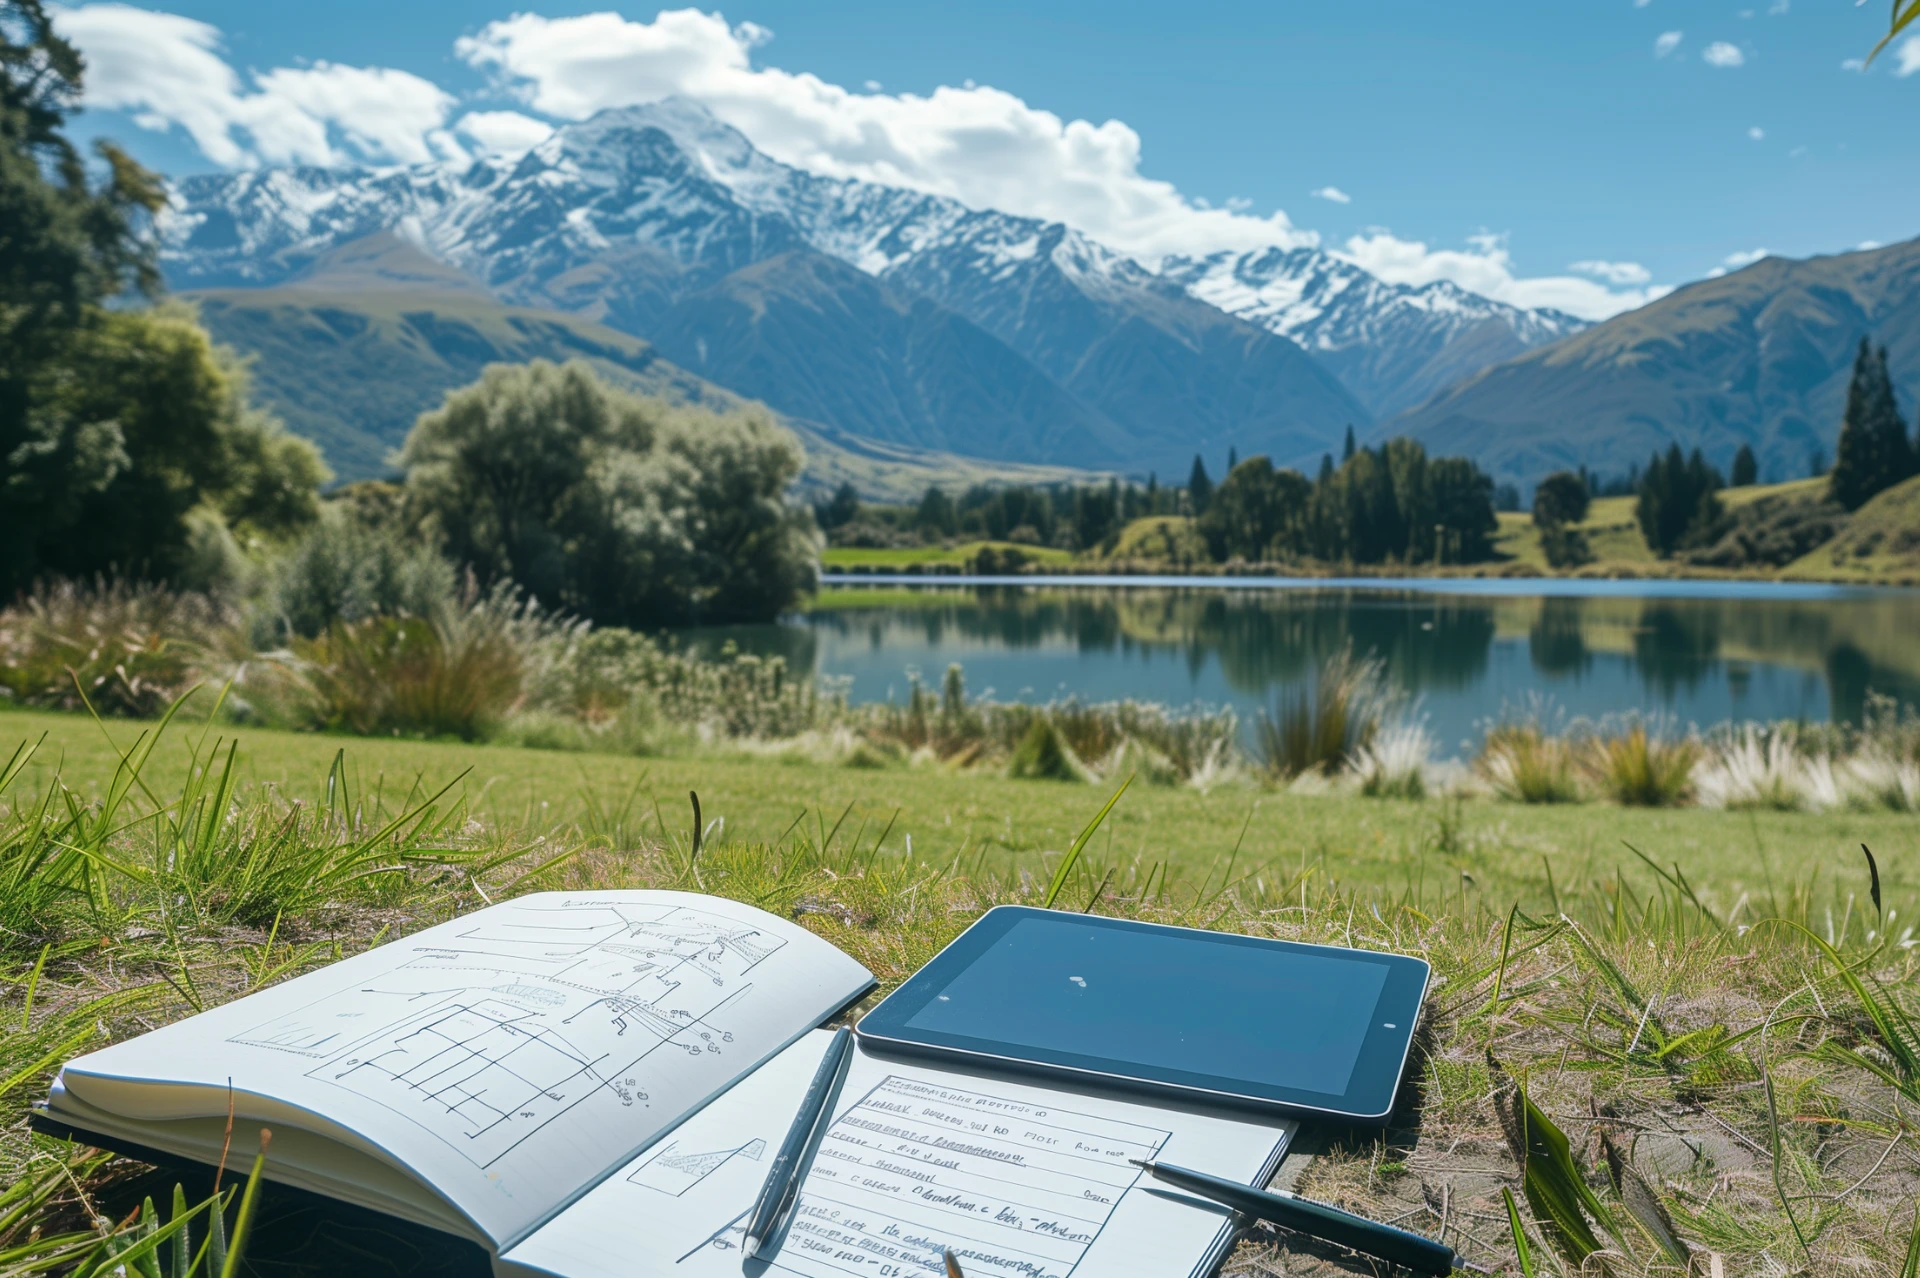
M307 1111L511 1245L870 982L737 902L541 892L84 1055L61 1082L123 1119L225 1119L230 1078L240 1123Z

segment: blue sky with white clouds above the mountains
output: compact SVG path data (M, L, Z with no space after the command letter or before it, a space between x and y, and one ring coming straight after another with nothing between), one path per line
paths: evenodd
M1148 259L1317 242L1590 315L1759 249L1920 232L1920 40L1845 65L1884 0L522 4L63 21L123 106L88 127L167 173L524 146L526 121L674 90L789 163L1023 205ZM463 132L474 111L515 115Z

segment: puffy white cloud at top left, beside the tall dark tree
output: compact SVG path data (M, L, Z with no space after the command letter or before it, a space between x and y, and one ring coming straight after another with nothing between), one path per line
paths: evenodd
M177 127L217 165L413 163L451 148L440 125L453 96L405 71L317 61L248 86L207 23L129 4L56 10L54 21L86 56L88 106L129 111L142 129Z

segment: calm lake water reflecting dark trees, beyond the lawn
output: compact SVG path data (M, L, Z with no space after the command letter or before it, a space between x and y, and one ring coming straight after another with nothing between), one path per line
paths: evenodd
M856 585L854 585L856 583ZM904 698L950 662L970 695L1231 704L1242 722L1342 645L1373 652L1442 750L1536 698L1569 718L1853 720L1920 704L1920 591L1732 581L829 580L822 606L733 641ZM1469 746L1471 748L1471 746Z

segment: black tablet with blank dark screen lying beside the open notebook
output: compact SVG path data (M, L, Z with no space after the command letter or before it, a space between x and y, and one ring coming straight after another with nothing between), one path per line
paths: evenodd
M1384 1123L1428 965L998 906L870 1011L881 1052Z

